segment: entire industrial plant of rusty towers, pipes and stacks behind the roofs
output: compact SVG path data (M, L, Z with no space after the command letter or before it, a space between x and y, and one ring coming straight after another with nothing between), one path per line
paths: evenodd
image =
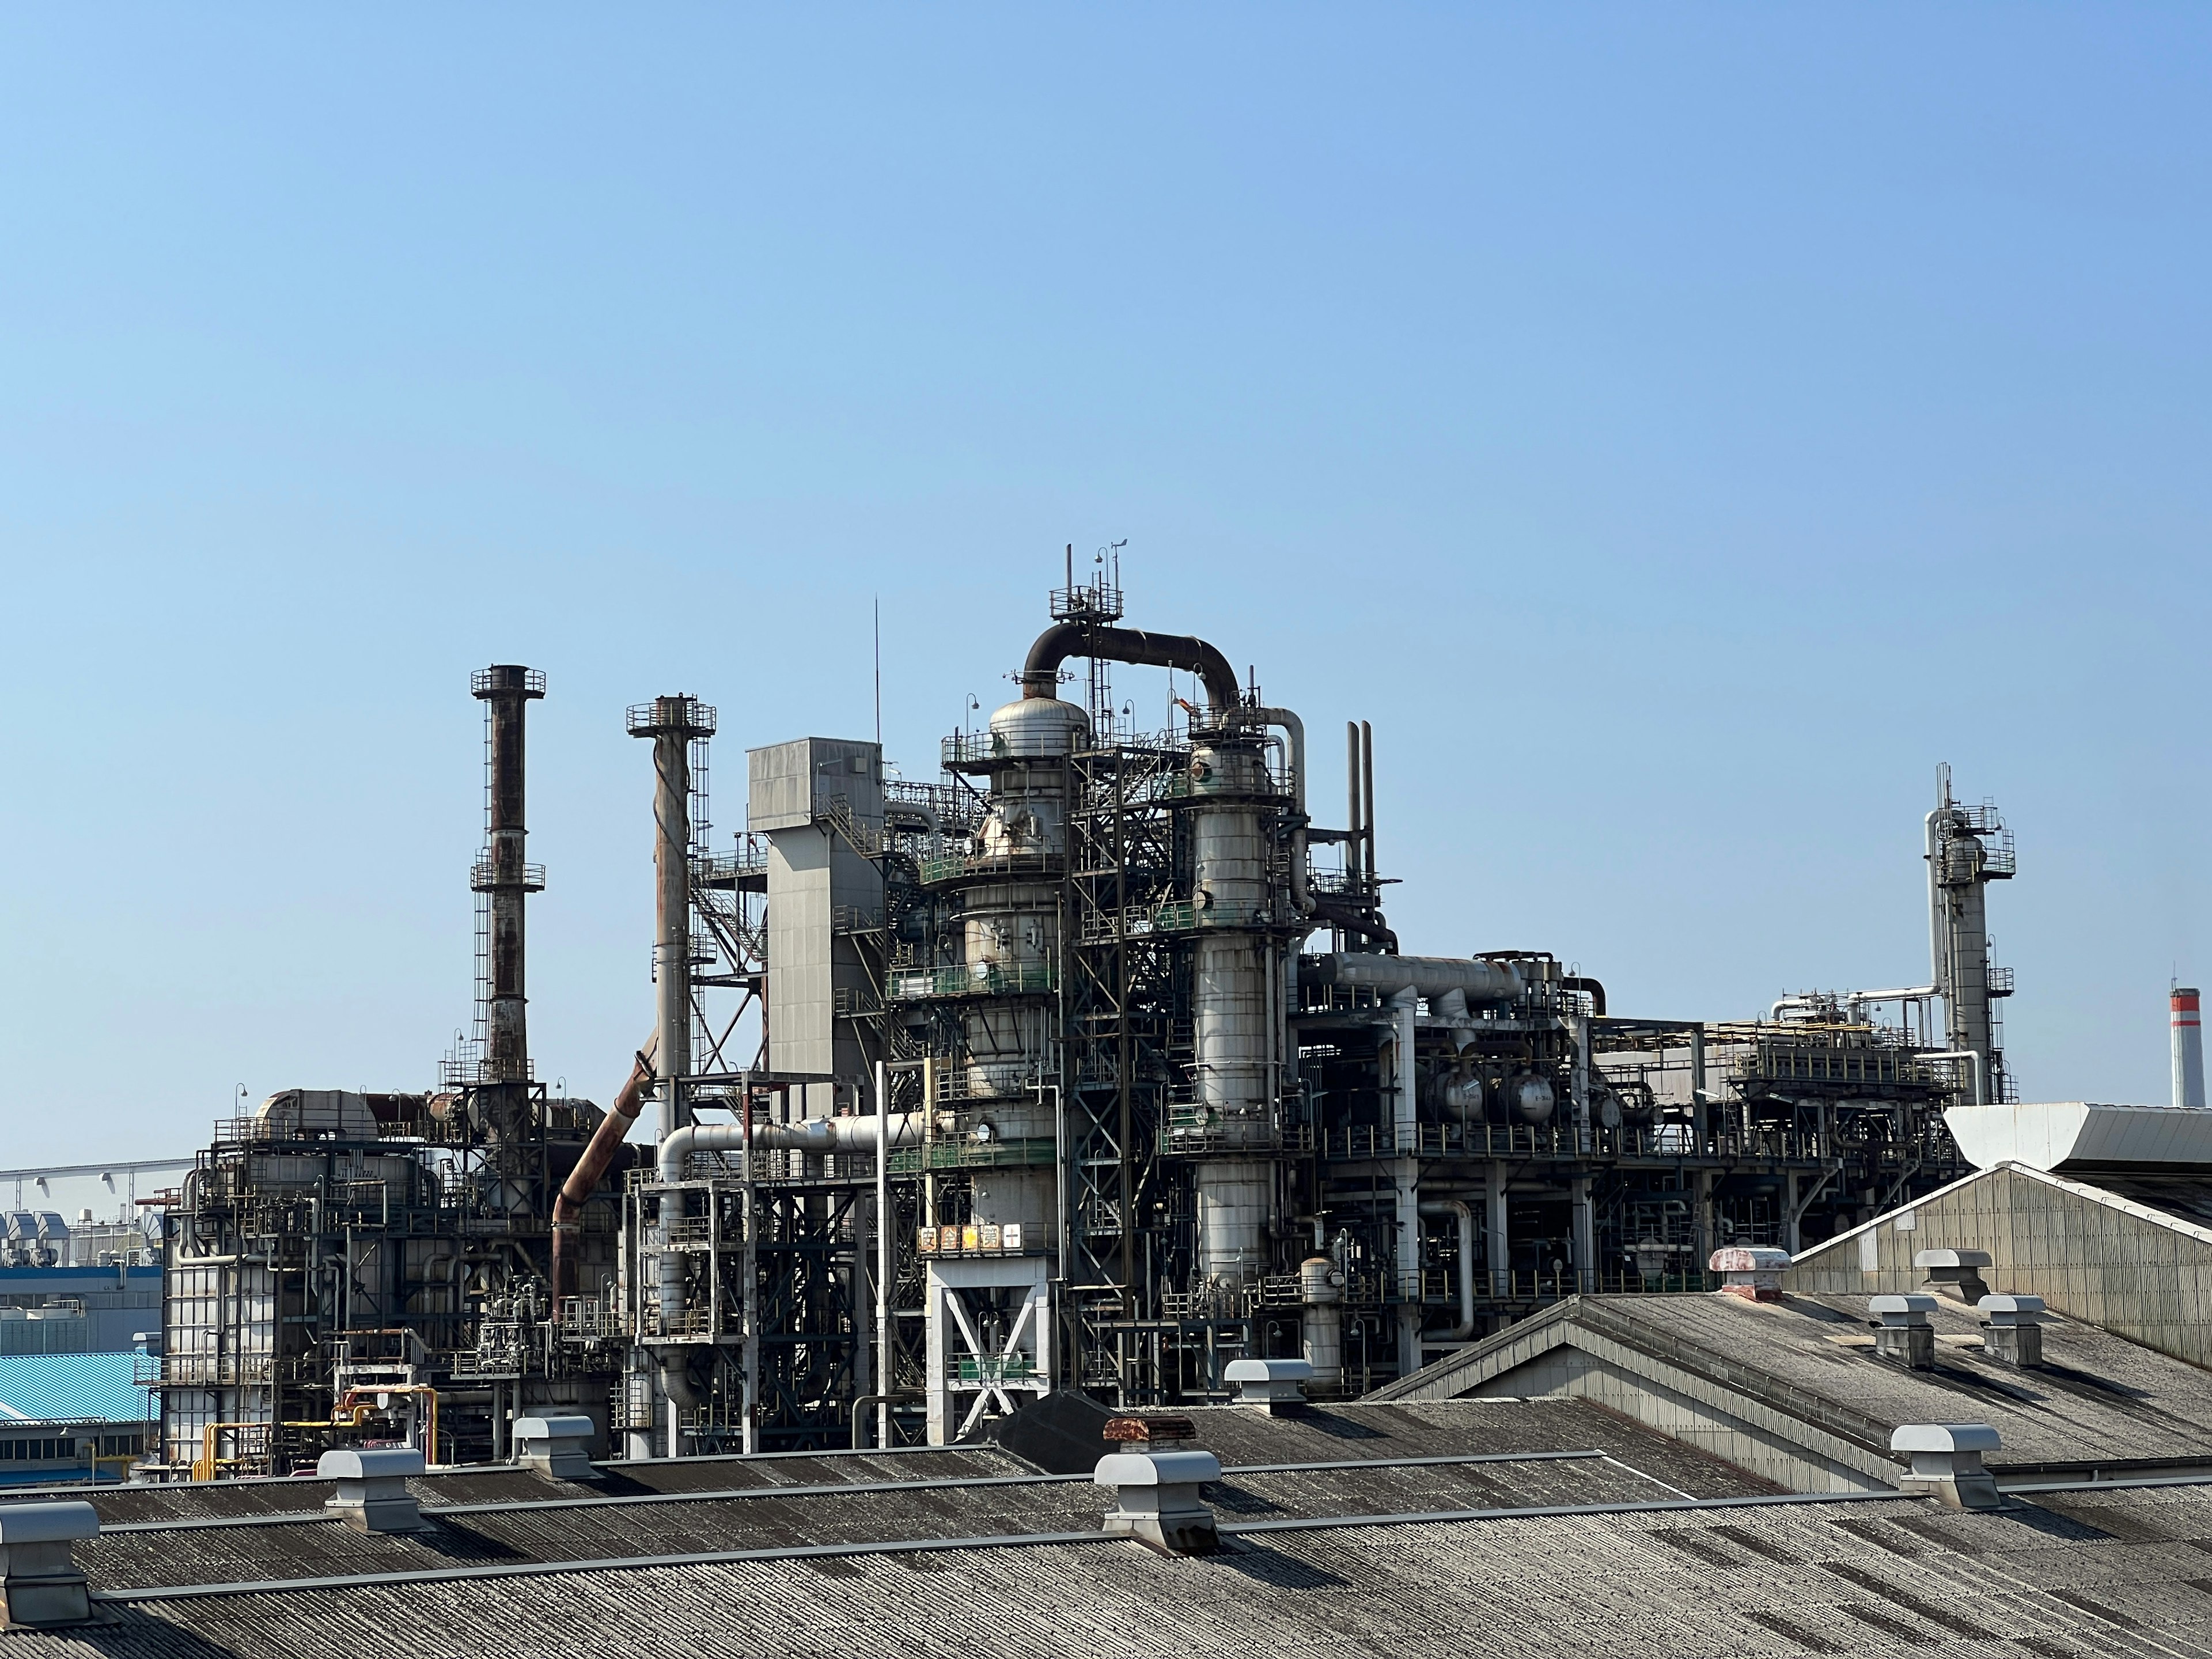
M1210 637L1124 626L1110 564L1048 611L927 779L748 732L723 845L717 710L626 712L655 1018L604 1106L531 1064L546 679L478 672L473 1033L429 1088L272 1095L168 1194L146 1473L495 1462L553 1416L597 1455L951 1444L1037 1396L1219 1402L1265 1358L1354 1398L1863 1225L1966 1172L1947 1108L2017 1099L2013 841L1949 772L1924 984L1646 1018L1542 949L1400 953L1369 723L1338 770ZM1166 730L1124 670L1188 690Z

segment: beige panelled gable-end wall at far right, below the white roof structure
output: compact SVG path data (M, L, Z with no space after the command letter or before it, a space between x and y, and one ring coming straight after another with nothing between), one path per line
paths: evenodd
M1980 1250L1991 1290L2042 1296L2190 1365L2212 1367L2212 1177L2154 1164L2059 1175L1997 1164L1798 1252L1783 1290L1920 1290L1922 1250Z

